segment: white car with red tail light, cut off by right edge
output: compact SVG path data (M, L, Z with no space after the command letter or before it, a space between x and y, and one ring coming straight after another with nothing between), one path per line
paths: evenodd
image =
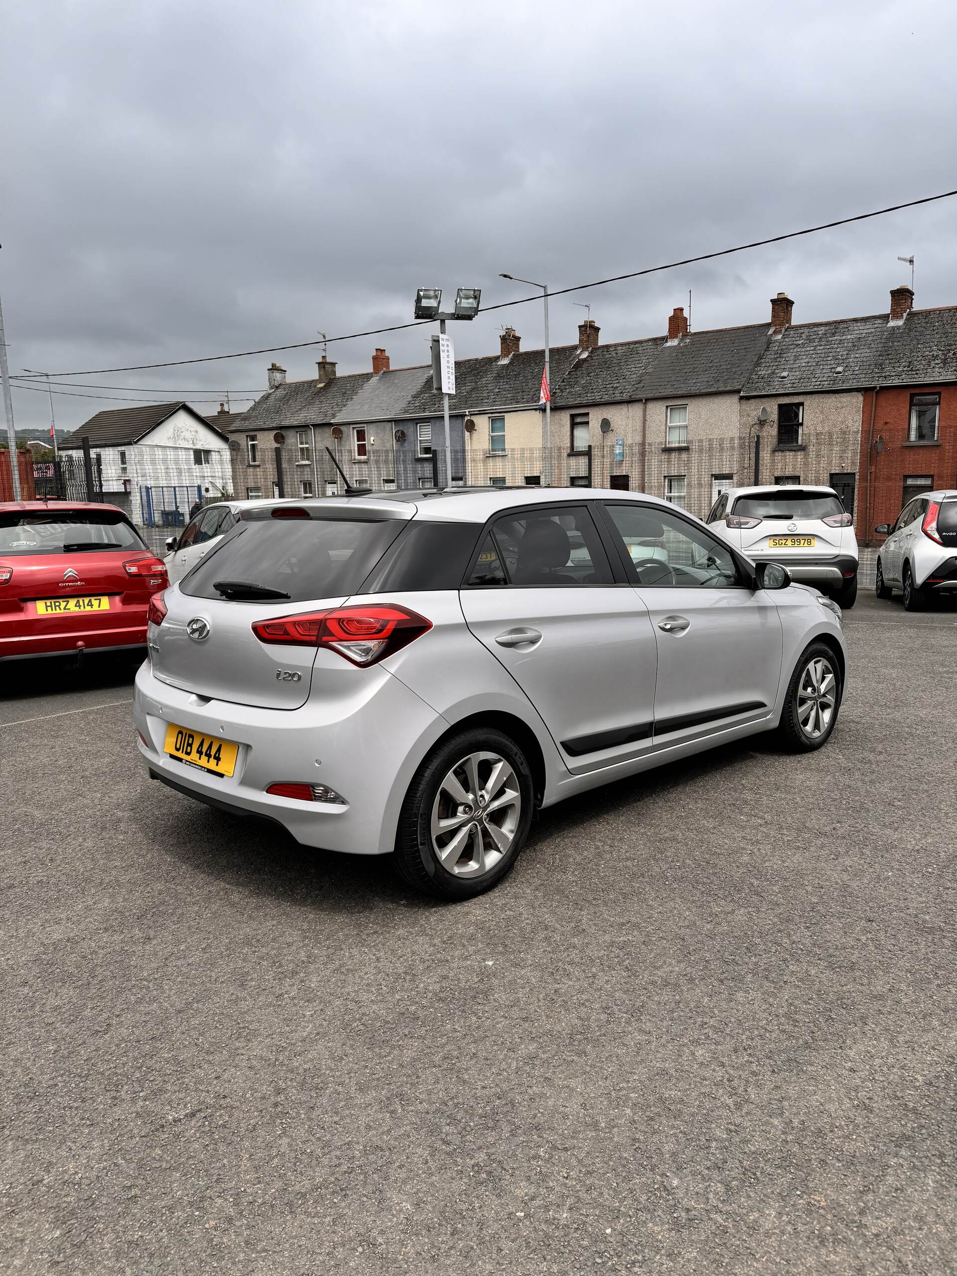
M919 611L933 595L957 591L957 490L921 493L893 526L880 523L874 531L887 536L878 551L878 598L898 588L907 611Z

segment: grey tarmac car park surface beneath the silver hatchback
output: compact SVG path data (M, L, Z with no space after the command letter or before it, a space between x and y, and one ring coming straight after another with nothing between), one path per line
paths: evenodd
M0 693L9 1272L957 1265L957 609L847 614L827 748L541 817L462 905ZM37 690L43 688L43 690Z

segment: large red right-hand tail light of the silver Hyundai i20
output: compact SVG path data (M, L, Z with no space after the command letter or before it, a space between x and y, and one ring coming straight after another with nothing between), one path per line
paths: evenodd
M253 633L265 643L332 647L353 665L365 667L407 647L431 627L431 620L407 607L374 604L256 620Z

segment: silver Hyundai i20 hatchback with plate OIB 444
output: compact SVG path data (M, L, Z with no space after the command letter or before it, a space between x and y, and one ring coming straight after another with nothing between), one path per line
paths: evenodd
M536 809L758 731L819 748L840 609L652 496L453 489L244 512L153 598L149 773L449 898Z

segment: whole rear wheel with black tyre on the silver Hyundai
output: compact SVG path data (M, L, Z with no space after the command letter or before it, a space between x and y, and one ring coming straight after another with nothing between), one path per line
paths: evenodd
M481 894L518 859L533 805L532 773L516 741L494 727L466 729L416 772L399 815L396 868L426 894Z

